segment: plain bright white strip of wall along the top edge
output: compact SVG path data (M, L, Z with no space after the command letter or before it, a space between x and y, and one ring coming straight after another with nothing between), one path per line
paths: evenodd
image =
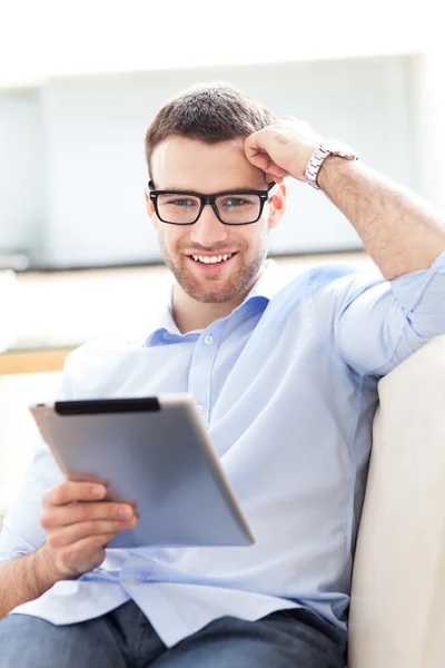
M277 7L270 0L224 0L211 24L208 0L0 4L0 87L57 76L200 67L204 61L222 66L417 53L443 41L437 0L280 0Z

